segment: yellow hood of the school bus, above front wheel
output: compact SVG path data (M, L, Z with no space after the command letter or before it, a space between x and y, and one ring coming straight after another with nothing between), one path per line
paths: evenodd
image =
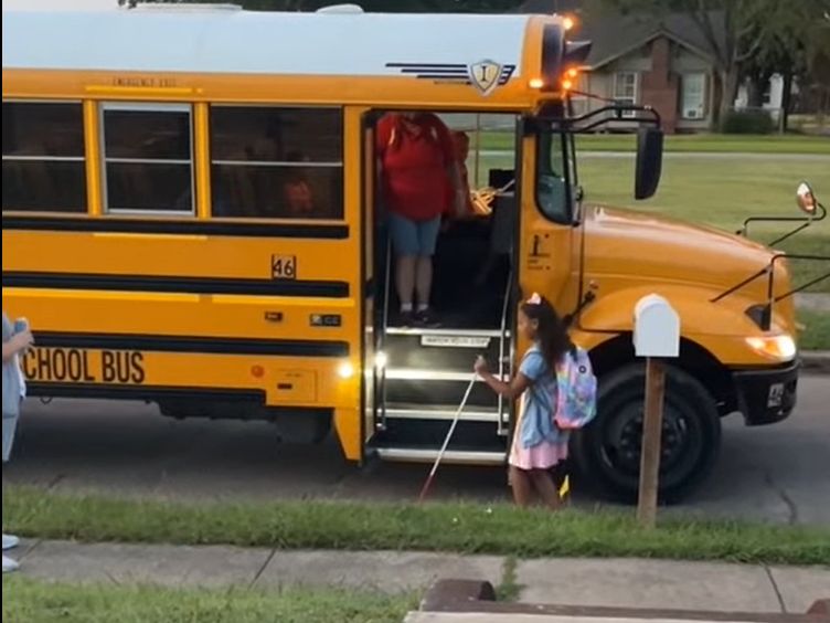
M586 207L584 226L585 277L600 287L604 282L634 278L641 285L684 283L716 296L760 271L773 257L768 247L745 237L634 210ZM784 263L777 265L784 274L776 274L776 291L781 292L788 289L789 281ZM758 278L737 294L760 303L766 284Z

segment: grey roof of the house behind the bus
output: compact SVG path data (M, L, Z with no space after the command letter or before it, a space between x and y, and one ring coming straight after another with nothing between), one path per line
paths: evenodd
M577 12L582 23L577 33L578 39L592 41L590 54L586 65L597 70L608 63L634 52L658 36L668 36L691 52L713 57L715 51L695 21L685 13L668 15L592 15L581 11L579 0L526 0L515 12L518 13L551 13ZM723 20L717 13L710 15L715 30L715 39L724 40Z

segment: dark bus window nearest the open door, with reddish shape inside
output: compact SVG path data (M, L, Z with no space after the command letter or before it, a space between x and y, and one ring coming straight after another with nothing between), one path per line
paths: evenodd
M339 108L211 106L213 215L342 219Z

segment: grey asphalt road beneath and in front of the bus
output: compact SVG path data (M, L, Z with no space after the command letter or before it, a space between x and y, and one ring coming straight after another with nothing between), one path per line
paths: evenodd
M830 377L802 379L799 406L786 422L746 429L727 419L723 442L711 481L672 513L830 525ZM426 472L359 469L333 442L280 445L265 423L179 422L152 405L55 401L26 405L3 483L169 499L415 499ZM493 500L509 492L501 469L446 467L433 496Z

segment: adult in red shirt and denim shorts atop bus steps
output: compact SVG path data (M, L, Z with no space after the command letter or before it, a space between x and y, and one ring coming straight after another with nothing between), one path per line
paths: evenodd
M436 325L429 296L441 215L449 211L460 215L467 199L453 137L433 114L392 113L377 125L376 150L396 260L401 321Z

